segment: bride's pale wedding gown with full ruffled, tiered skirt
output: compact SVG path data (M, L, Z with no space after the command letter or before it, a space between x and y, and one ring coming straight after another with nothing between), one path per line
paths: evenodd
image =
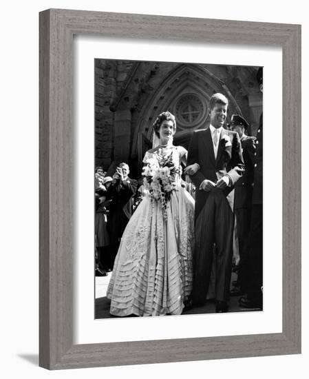
M175 168L183 151L171 150ZM158 159L156 152L147 152ZM180 185L167 202L167 217L160 201L145 195L131 217L116 256L107 297L114 316L181 314L193 282L194 200Z

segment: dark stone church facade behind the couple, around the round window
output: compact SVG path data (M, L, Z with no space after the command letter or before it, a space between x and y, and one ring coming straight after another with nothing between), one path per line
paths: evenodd
M120 161L127 161L132 176L138 176L153 121L163 110L177 113L186 92L198 96L200 104L214 92L226 94L228 119L232 113L242 114L251 125L248 134L255 135L262 112L256 72L246 66L96 59L96 165L112 174ZM201 108L206 113L200 123L187 129L178 123L175 139L180 143L188 145L193 127L207 126L207 107Z

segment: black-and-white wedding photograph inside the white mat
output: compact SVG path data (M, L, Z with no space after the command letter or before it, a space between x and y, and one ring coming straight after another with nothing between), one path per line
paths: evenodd
M263 68L94 60L95 318L263 311Z

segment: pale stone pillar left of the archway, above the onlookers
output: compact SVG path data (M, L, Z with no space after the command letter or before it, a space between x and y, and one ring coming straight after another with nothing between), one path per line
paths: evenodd
M114 116L114 161L128 161L131 138L131 111L117 110Z

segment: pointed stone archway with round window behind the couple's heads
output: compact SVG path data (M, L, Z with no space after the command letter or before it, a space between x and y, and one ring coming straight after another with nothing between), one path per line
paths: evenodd
M140 134L151 141L153 122L165 110L176 117L178 129L175 143L188 147L193 130L209 125L208 104L215 92L222 92L230 99L231 114L242 114L226 85L204 65L181 63L174 66L173 70L165 73L160 85L140 109L135 122L131 154L142 154L139 148Z

